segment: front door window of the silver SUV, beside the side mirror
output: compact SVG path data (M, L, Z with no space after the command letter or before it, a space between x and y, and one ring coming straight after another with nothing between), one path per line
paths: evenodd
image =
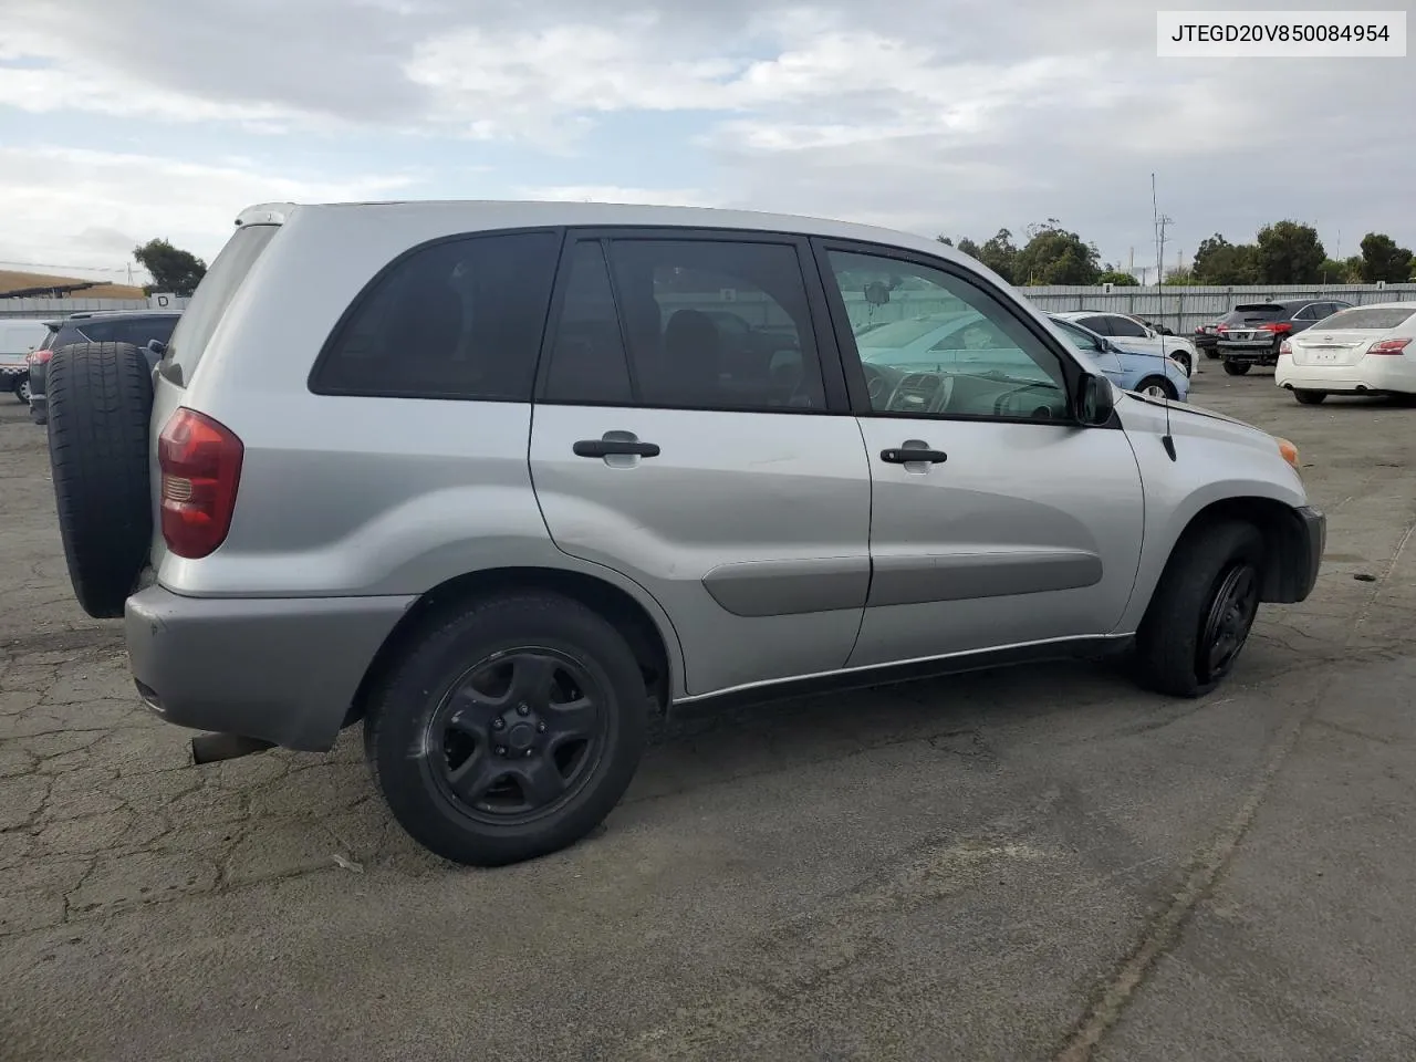
M828 262L874 412L1069 416L1058 355L973 282L932 266L847 251L831 251ZM909 327L871 327L889 313ZM929 329L920 331L925 323Z

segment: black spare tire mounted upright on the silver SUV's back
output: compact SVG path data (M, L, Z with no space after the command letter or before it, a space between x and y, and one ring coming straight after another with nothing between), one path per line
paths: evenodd
M153 378L130 343L75 343L45 378L50 467L69 582L95 619L123 615L152 547Z

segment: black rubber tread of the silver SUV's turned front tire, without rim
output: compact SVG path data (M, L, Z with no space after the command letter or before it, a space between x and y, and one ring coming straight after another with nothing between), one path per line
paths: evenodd
M1202 524L1175 544L1136 637L1137 681L1171 697L1202 697L1218 683L1195 670L1199 624L1221 569L1235 556L1263 556L1263 535L1242 520Z

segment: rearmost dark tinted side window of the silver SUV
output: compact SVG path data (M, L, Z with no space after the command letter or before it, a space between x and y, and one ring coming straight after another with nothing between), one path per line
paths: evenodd
M310 389L530 402L559 245L555 232L466 236L396 261L360 295Z

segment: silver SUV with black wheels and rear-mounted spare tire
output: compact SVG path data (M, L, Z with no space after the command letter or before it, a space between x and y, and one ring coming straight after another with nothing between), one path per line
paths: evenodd
M75 592L215 732L198 759L362 721L449 860L585 835L671 705L1097 650L1194 697L1317 578L1289 443L1123 394L933 241L548 202L236 225L152 374L50 368ZM867 343L947 314L987 327Z

